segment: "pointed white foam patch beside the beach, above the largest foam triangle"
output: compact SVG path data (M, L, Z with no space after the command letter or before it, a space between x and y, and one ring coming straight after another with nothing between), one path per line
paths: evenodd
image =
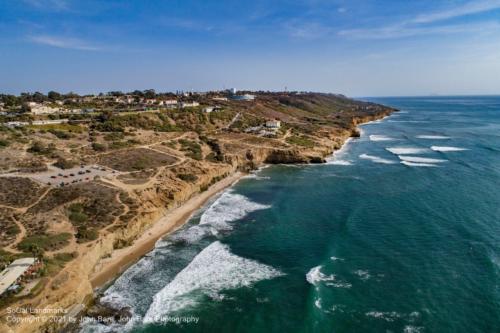
M217 230L230 230L228 222L239 220L248 213L267 209L271 206L250 201L247 197L224 192L201 216L200 225L209 224Z

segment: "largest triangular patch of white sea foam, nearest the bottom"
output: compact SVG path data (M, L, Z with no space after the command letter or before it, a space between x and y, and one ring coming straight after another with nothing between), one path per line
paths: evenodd
M217 298L222 290L250 286L283 275L273 267L239 257L229 247L213 242L201 251L174 279L153 297L144 323L188 306L203 295Z

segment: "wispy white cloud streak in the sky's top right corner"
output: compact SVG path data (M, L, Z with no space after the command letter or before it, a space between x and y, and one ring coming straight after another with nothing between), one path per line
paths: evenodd
M435 11L428 14L421 14L415 17L412 23L432 23L436 21L448 20L456 17L479 14L500 8L500 0L472 1L462 6Z

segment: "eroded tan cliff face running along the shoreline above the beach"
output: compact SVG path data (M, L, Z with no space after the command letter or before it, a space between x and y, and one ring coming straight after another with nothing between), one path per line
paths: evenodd
M114 250L126 247L148 230L156 221L191 197L206 190L210 185L234 174L236 171L250 171L264 163L322 163L325 157L339 149L345 140L359 136L356 125L376 120L390 114L390 111L362 118L354 118L351 129L336 132L325 131L318 137L313 147L293 147L290 149L249 147L239 153L227 152L224 161L212 163L192 161L180 166L178 170L162 170L147 186L124 189L135 201L137 209L126 224L117 228L102 230L97 241L82 247L77 259L70 262L53 278L40 295L16 306L30 306L46 309L71 309L77 304L85 304L92 299L93 288L90 276L99 271L100 262ZM185 173L196 176L195 181L181 181L176 174ZM17 324L4 322L0 331L5 332L59 332L63 324L44 322L49 315L20 315L25 317ZM37 319L35 319L37 318ZM28 320L31 319L31 320ZM3 326L1 326L3 325Z

